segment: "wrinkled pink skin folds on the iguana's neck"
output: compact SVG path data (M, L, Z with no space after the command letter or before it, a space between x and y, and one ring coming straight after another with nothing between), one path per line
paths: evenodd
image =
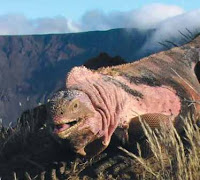
M101 75L98 80L84 78L83 81L74 83L70 88L80 90L88 95L94 109L102 119L98 136L103 137L103 144L108 145L119 124L119 116L123 111L126 93L114 84L106 82L103 76Z

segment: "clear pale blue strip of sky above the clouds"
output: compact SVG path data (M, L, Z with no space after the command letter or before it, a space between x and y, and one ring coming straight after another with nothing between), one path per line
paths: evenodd
M199 0L1 0L0 15L21 13L28 18L65 16L79 20L87 11L129 11L152 3L176 5L185 11L200 7Z

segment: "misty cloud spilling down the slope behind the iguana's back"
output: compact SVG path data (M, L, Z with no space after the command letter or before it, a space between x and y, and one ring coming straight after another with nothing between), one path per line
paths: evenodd
M176 42L177 40L180 41L180 39L182 39L182 41L186 42L187 38L184 38L181 33L189 35L190 33L188 30L192 32L192 34L199 32L199 17L200 9L197 9L161 21L155 26L156 31L154 35L146 42L142 51L144 52L145 49L160 49L159 42L165 42L166 40L173 40L177 45L179 45L179 42Z

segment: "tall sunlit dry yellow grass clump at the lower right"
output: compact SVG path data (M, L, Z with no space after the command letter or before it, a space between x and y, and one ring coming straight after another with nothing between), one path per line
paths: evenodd
M141 179L196 180L200 177L200 131L188 118L184 120L185 131L179 135L174 127L164 125L160 130L152 131L142 123L151 157L144 159L120 147L122 151L135 159L135 173Z

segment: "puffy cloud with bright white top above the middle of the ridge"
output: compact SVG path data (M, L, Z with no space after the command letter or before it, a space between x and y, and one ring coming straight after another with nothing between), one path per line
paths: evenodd
M152 4L141 9L128 12L112 12L105 14L93 10L82 17L83 30L104 30L112 28L154 28L161 21L180 15L183 9L177 6Z

